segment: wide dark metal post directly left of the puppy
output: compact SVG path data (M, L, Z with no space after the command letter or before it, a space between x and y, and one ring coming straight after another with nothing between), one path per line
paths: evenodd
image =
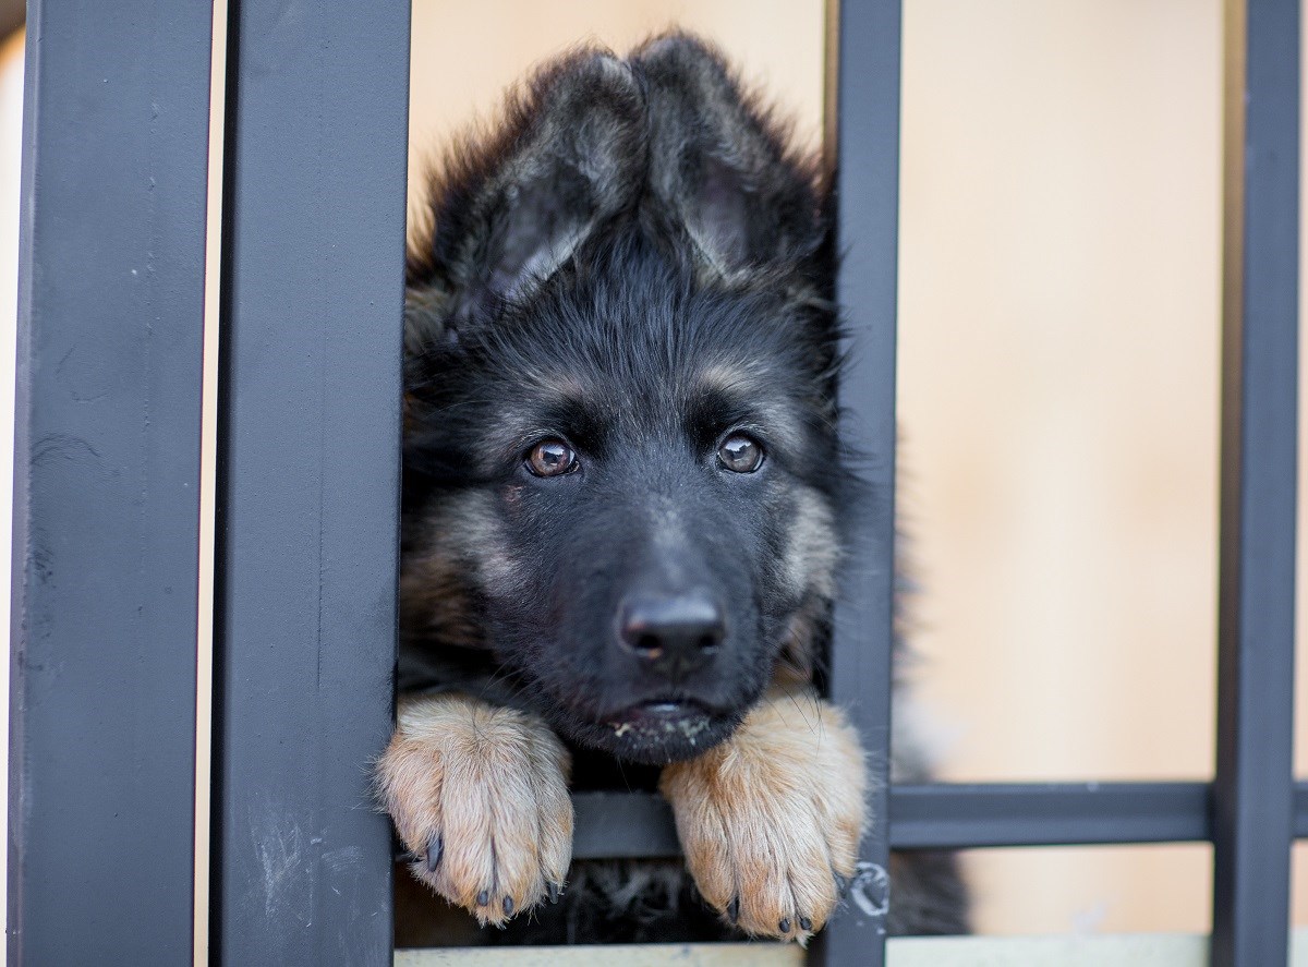
M407 0L233 0L216 959L388 964Z

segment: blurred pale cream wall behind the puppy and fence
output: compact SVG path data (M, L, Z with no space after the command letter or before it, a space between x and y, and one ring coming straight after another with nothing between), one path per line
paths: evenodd
M818 0L413 0L411 200L432 150L530 64L671 24L726 47L818 144ZM901 506L942 777L1209 777L1220 4L906 0L904 26ZM5 327L20 55L0 54ZM1207 929L1207 847L967 862L988 932Z

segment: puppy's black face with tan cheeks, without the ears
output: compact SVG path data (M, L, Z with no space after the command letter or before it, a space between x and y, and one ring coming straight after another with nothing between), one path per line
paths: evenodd
M428 357L409 556L464 569L487 644L557 728L670 762L725 738L807 644L836 451L800 309L696 292L610 241L602 271Z

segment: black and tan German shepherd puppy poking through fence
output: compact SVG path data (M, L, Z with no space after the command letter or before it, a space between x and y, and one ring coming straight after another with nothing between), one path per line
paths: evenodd
M433 179L378 785L496 940L804 941L855 871L863 754L812 686L857 493L824 185L683 34L547 64ZM606 782L657 784L693 887L569 871ZM964 929L951 858L895 875L895 929Z

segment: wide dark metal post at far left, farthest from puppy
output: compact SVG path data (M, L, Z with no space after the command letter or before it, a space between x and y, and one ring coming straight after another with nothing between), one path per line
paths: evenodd
M30 4L12 964L191 959L211 18Z

